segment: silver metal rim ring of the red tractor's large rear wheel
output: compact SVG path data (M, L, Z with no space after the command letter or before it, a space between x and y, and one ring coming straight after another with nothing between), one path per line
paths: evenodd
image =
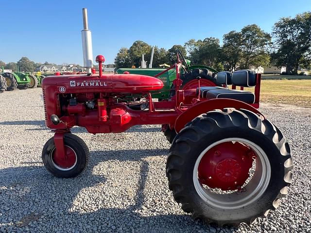
M198 167L208 150L224 142L240 142L256 153L256 170L252 179L245 185L245 192L218 194L204 188L198 179ZM271 166L266 153L254 142L244 138L225 138L209 145L198 156L193 168L193 184L199 197L208 205L222 210L236 210L249 206L262 197L271 178Z

